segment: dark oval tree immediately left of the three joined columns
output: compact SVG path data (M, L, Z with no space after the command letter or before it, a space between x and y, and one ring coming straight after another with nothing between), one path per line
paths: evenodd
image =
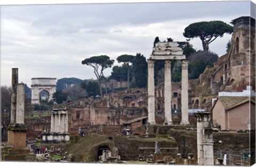
M133 76L134 76L134 82L135 86L139 88L146 88L147 87L147 71L148 71L148 64L146 61L146 58L140 54L137 53L135 56L135 60L133 63Z

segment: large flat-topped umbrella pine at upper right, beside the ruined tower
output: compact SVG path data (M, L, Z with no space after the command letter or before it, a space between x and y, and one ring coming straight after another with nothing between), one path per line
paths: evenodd
M231 34L233 27L222 21L202 21L190 24L185 28L183 36L186 38L199 37L202 41L203 50L209 51L209 44L216 38L223 37L225 33Z

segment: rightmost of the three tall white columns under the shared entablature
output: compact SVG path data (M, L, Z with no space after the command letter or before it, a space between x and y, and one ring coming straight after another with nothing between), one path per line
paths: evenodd
M188 122L188 60L181 61L181 125L189 124Z

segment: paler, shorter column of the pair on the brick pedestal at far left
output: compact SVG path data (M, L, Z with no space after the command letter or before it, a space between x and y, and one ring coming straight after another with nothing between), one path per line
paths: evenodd
M16 124L24 124L25 85L17 85Z

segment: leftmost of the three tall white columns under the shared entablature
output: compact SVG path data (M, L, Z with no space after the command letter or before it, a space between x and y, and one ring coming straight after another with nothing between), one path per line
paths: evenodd
M154 60L148 59L148 123L156 124L155 121L155 81Z

